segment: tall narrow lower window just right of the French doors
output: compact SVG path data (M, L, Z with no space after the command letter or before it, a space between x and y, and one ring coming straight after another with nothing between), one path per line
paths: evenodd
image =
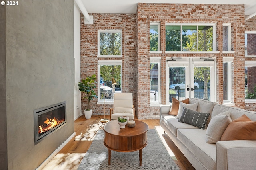
M223 102L232 103L232 62L233 57L223 58Z

